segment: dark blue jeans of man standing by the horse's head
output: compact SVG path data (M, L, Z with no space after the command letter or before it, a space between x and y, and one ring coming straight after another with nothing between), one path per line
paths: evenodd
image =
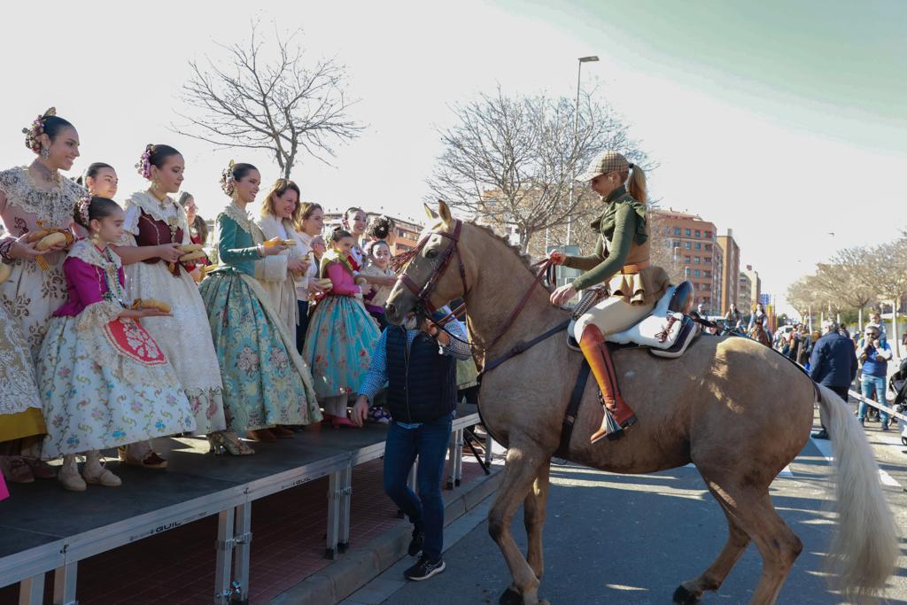
M444 546L444 498L441 479L444 454L451 438L452 415L444 415L417 428L392 422L385 444L385 493L405 512L415 529L425 532L422 554L430 561L441 558ZM406 485L416 456L419 495Z

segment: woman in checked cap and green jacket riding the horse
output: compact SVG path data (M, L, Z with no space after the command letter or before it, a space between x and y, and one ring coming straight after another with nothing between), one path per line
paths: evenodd
M658 298L668 289L663 268L649 263L649 222L646 220L646 175L617 151L606 151L580 174L577 181L589 181L601 196L601 216L591 224L599 234L595 252L571 257L551 252L551 262L585 271L573 283L551 293L551 304L562 305L583 288L606 284L609 296L582 315L573 327L601 389L605 415L594 444L602 437L617 438L636 422L633 410L620 396L617 375L611 363L605 337L622 332L649 315ZM629 192L624 183L629 181Z

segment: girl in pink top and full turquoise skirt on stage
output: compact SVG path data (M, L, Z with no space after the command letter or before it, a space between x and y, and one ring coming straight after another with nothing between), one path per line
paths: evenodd
M318 401L335 427L352 425L346 417L346 400L356 394L368 372L380 336L366 307L355 298L371 292L371 287L356 284L349 260L353 244L349 231L335 229L320 267L320 276L330 278L332 287L309 322L303 355L316 376Z

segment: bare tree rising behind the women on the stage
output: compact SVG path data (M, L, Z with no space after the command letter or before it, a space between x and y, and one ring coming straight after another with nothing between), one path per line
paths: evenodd
M247 42L218 44L226 64L190 61L181 98L191 111L178 113L187 123L171 128L218 147L270 151L284 178L300 151L327 162L334 145L356 138L362 126L347 114L354 101L345 93L346 66L333 59L307 66L301 35L275 31L276 53L268 58L253 22Z

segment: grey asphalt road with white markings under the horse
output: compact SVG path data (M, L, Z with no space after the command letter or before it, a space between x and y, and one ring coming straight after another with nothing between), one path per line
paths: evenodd
M886 497L898 527L907 527L907 454L896 432L867 424L883 471ZM805 549L796 561L781 603L836 603L826 586L823 552L832 529L828 442L810 440L772 484L778 512ZM510 581L483 515L490 502L445 532L447 570L424 582L401 581L412 560L395 567L345 602L414 605L496 603ZM481 510L480 510L481 509ZM513 533L525 551L522 511ZM683 580L714 560L727 524L695 468L649 475L617 475L586 467L554 465L545 525L545 576L540 596L551 603L669 603ZM902 539L903 542L903 539ZM902 552L904 550L902 549ZM704 603L745 603L756 587L761 560L752 544L717 593ZM907 603L907 557L891 582L890 602Z

